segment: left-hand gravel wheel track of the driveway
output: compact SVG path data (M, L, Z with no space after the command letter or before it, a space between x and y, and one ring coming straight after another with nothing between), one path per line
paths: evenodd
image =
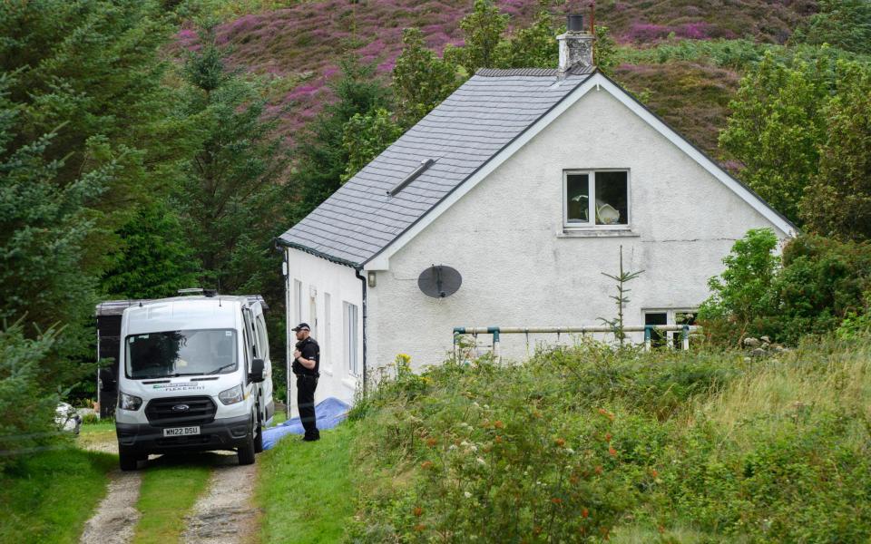
M139 510L133 505L139 499L142 475L113 471L109 478L109 492L84 525L82 544L126 544L133 538L139 522Z

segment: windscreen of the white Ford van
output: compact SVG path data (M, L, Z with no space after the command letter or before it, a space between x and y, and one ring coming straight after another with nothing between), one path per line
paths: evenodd
M133 379L236 370L236 331L209 329L127 336L126 374Z

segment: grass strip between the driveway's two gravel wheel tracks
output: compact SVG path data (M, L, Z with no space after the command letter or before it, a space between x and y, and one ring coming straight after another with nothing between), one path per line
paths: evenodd
M163 456L149 461L142 471L142 488L136 508L142 512L136 526L137 544L181 541L184 517L206 490L211 475L204 456Z

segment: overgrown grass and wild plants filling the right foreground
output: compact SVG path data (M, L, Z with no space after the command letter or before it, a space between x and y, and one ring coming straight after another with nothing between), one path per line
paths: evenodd
M346 540L671 541L691 527L687 541L862 541L869 349L744 364L582 342L524 364L449 361L411 389L397 376L354 426Z

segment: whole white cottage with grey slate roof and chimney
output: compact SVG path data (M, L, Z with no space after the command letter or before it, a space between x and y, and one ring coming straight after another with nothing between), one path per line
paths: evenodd
M673 325L749 228L795 233L598 72L578 24L559 68L478 71L280 237L288 323L322 346L318 400L351 401L400 353L444 361L455 326L600 324L620 247L644 270L626 325ZM459 271L455 294L421 292L433 265ZM502 340L523 356L535 339Z

